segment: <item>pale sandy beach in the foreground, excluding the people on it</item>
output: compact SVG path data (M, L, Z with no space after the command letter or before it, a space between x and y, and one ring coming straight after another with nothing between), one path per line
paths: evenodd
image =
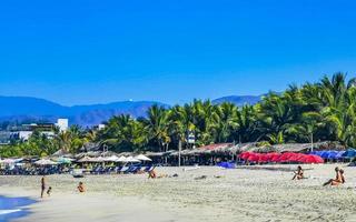
M39 199L40 176L1 176L0 195L38 200L17 221L356 221L356 168L343 164L346 183L323 188L335 164L303 165L309 179L291 181L296 165L194 171L158 168L178 178L49 175L50 198ZM195 180L206 175L206 179ZM82 181L87 193L76 192Z

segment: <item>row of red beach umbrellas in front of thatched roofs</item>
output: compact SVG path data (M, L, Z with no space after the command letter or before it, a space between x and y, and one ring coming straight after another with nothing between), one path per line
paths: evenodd
M243 152L239 155L240 159L249 162L267 163L267 162L299 162L299 163L324 163L323 158L315 154L303 154L295 152L285 153L255 153L255 152Z

